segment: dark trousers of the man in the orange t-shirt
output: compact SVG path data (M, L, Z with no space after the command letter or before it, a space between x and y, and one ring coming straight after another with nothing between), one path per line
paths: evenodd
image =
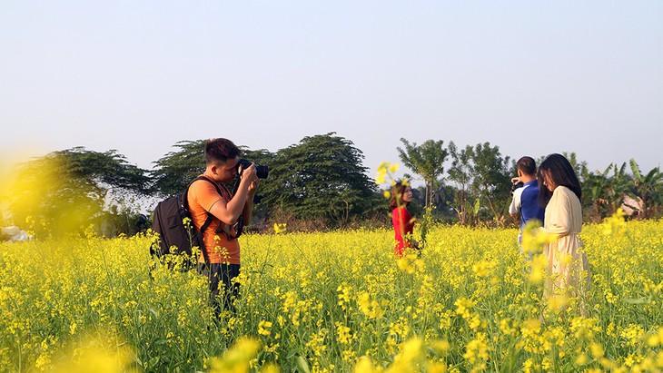
M234 313L234 300L240 295L240 284L233 279L240 275L240 265L212 263L208 266L198 263L198 273L210 280L209 302L214 313L218 316L223 309Z

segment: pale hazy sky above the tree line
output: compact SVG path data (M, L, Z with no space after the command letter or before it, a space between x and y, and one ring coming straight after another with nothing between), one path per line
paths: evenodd
M336 132L661 163L663 1L0 0L0 152ZM527 130L523 130L527 127ZM6 157L5 157L6 158Z

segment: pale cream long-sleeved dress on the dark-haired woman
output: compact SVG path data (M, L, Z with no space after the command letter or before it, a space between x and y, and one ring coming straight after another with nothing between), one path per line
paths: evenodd
M582 206L569 188L559 186L552 192L543 231L557 236L544 250L550 274L544 298L560 293L582 294L589 286L589 262L578 236L582 231Z

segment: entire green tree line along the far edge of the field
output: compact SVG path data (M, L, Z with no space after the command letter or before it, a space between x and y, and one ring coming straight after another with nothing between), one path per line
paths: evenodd
M157 201L183 192L204 171L204 142L175 143L172 152L153 162L153 170L131 164L114 150L83 147L21 163L13 182L0 191L2 225L29 225L26 228L41 235L85 230L106 236L133 234L149 225L141 211L149 215ZM513 223L508 206L516 159L502 155L497 145L401 143L396 151L402 164L424 183L414 191L415 216L421 217L425 208L439 221ZM247 147L242 152L243 158L270 167L255 205L251 228L256 231L269 230L275 222L286 222L292 230L389 224L387 201L367 175L363 153L336 133L307 136L276 152ZM599 221L620 207L635 219L663 213L663 173L658 167L644 172L630 160L590 172L575 153L565 155L582 182L587 220Z

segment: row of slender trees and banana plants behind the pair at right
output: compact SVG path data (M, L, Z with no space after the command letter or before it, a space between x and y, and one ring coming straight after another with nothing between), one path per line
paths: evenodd
M502 155L500 147L490 142L464 148L454 142L446 148L441 141L421 145L405 139L401 142L401 162L426 184L415 193L415 201L428 207L436 218L465 225L514 223L508 211L510 179L517 175L518 159ZM619 208L633 219L656 219L663 214L663 172L659 167L643 172L631 159L620 165L610 163L603 172L592 172L575 152L563 154L579 176L586 221L601 221ZM537 164L544 159L539 156ZM444 173L441 166L433 169L430 162L446 162L450 167Z

